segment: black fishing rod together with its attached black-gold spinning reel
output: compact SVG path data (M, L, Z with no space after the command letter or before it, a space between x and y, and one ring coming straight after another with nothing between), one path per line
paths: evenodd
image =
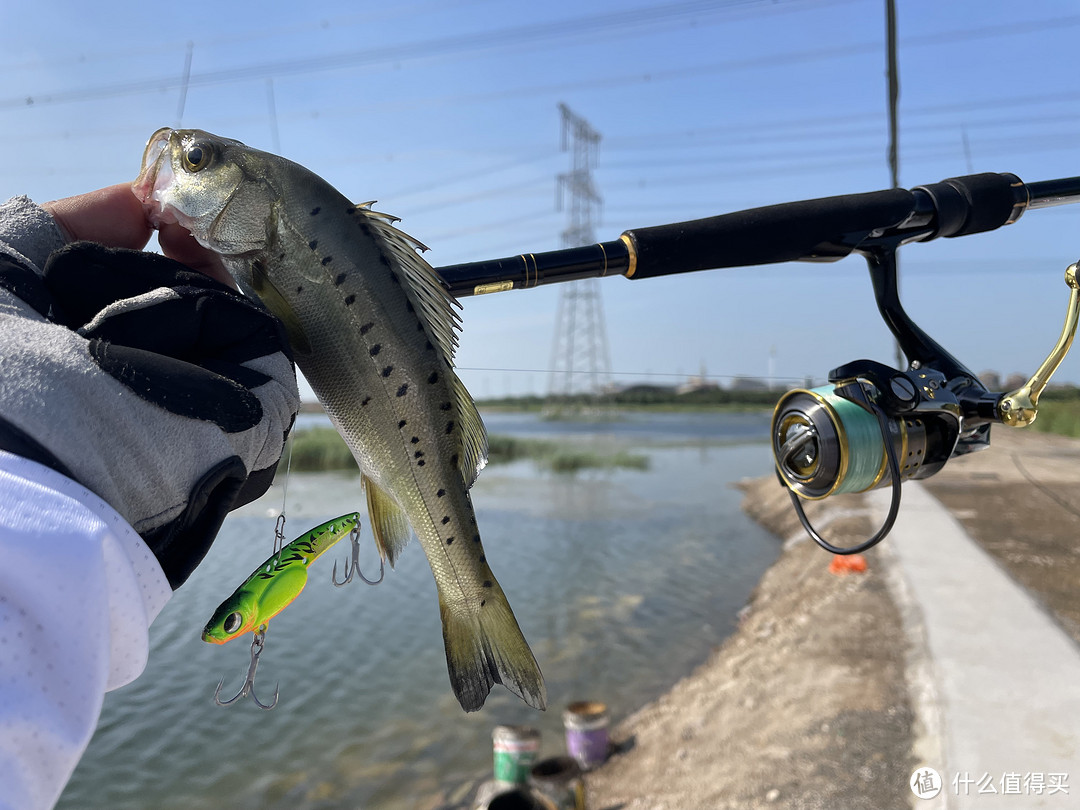
M990 392L923 332L900 302L896 249L1015 222L1028 210L1080 202L1080 177L1025 184L1013 174L953 177L910 190L767 205L686 222L636 228L584 247L438 268L456 296L527 289L606 275L631 280L782 261L836 261L852 253L869 267L878 311L908 360L895 369L870 360L834 368L828 384L780 397L771 438L777 475L804 528L834 554L882 540L901 502L901 484L927 478L957 456L989 446L990 426L1026 427L1065 359L1080 320L1078 265L1065 272L1069 303L1057 343L1020 389ZM802 500L890 485L881 527L840 548L811 526Z

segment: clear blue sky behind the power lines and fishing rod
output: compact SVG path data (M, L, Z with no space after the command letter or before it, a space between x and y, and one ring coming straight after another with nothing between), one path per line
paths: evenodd
M1080 175L1075 0L900 0L901 185ZM0 194L130 179L159 126L278 150L403 218L437 266L559 246L563 102L602 135L596 237L889 186L883 0L83 3L0 8ZM191 81L180 109L180 76ZM272 100L271 100L272 99ZM1080 205L901 252L916 320L1030 373ZM615 379L823 378L893 361L858 257L600 283ZM558 285L464 299L477 397L543 393ZM1057 379L1080 381L1080 359Z

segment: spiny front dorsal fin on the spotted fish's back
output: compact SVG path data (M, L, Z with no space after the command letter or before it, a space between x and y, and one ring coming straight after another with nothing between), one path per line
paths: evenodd
M393 258L394 269L405 275L410 298L427 323L434 341L446 364L454 365L454 353L458 348L457 329L461 328L461 318L455 311L460 308L450 295L446 283L417 251L428 248L404 231L394 228L397 217L372 211L372 203L353 208L353 216L363 217L372 230L382 238L382 242Z

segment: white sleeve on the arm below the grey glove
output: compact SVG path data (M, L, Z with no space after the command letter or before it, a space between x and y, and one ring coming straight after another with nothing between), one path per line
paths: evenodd
M106 691L146 666L172 595L157 558L70 478L0 451L0 808L51 808Z

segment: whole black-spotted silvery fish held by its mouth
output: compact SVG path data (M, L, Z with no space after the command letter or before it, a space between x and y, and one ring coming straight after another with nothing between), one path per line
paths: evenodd
M487 434L454 370L460 307L396 217L285 158L201 130L156 132L133 184L284 324L296 364L352 451L379 553L415 532L435 579L461 707L495 684L546 706L543 675L491 571L470 488Z

